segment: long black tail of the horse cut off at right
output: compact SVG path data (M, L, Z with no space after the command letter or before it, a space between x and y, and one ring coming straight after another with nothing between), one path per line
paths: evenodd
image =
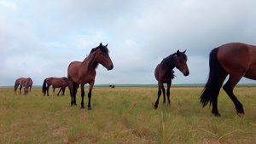
M225 72L223 67L220 66L218 63L217 54L218 48L212 49L209 60L209 78L205 89L203 89L203 93L200 97L203 107L207 106L209 101L211 106L212 101L216 100L216 98L218 97L219 89L224 83L224 78L227 76L227 72Z

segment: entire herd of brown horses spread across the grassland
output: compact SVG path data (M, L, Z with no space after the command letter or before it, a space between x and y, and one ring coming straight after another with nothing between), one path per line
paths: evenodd
M100 43L94 49L91 49L90 55L88 55L84 61L73 61L67 67L67 78L45 78L42 91L44 95L49 96L49 86L52 85L55 95L55 88L61 88L57 95L62 90L64 95L65 89L68 86L71 95L71 106L77 105L76 94L77 89L81 89L81 108L84 108L84 84L89 84L88 92L88 110L91 110L90 98L93 85L96 78L96 67L101 64L108 71L113 69L113 62L108 55L108 44L102 45ZM183 72L184 76L189 75L189 67L187 66L187 55L185 51L167 56L160 64L155 67L154 77L158 81L158 97L154 104L154 109L157 109L161 93L164 96L164 103L166 103L166 95L168 104L170 101L170 88L172 84L172 78L174 78L173 68L177 67L180 72ZM201 104L206 107L209 103L212 105L212 114L219 117L218 112L218 94L221 89L224 79L230 75L229 80L224 84L224 91L230 96L230 99L236 106L236 113L238 115L244 114L241 102L238 101L233 93L233 89L238 84L242 77L256 80L256 46L246 43L227 43L219 46L216 49L212 49L209 58L210 72L207 80L207 84L201 94ZM164 88L164 84L167 84L167 89ZM31 78L19 78L15 82L15 94L20 85L20 94L22 86L25 87L24 94L28 93L28 89L32 88ZM114 85L109 85L114 88Z

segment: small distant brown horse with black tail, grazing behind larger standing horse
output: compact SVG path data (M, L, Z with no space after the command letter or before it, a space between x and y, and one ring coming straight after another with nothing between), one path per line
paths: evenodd
M53 88L53 94L55 95L55 88L61 88L57 95L60 94L62 90L62 95L65 95L65 89L68 86L67 78L45 78L42 91L44 95L47 92L47 95L49 96L49 87L52 85Z

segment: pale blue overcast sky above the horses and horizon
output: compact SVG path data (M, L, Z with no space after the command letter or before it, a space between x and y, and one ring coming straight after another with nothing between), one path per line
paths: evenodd
M190 73L174 68L172 84L205 84L212 49L256 45L255 8L255 0L0 0L0 86L67 77L69 63L100 43L113 70L98 66L95 84L157 84L155 66L177 49L187 49Z

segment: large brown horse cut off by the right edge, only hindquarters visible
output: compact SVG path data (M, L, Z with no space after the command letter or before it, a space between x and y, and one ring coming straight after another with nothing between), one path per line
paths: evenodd
M218 93L225 78L230 75L224 84L224 91L236 106L237 115L244 114L241 102L237 100L233 89L242 77L256 80L256 46L245 43L227 43L210 53L210 72L207 84L201 95L202 106L212 105L212 114L219 117L217 102Z

